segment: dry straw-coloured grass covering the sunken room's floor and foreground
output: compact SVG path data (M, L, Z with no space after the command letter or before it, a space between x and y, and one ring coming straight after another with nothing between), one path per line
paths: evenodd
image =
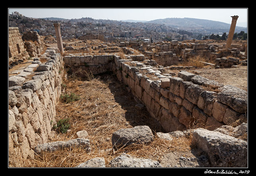
M70 118L71 128L66 134L55 135L54 141L67 141L76 138L76 132L86 130L90 140L91 152L86 153L81 148L62 149L55 152L45 152L28 159L25 167L74 167L89 159L103 157L106 166L114 157L121 153L161 160L169 151L190 150L190 139L177 138L167 141L159 138L147 145L132 145L117 151L112 148L112 133L122 128L132 128L147 125L153 133L163 132L161 126L150 117L146 109L136 110L134 98L126 87L114 78L101 75L101 79L88 77L81 80L69 77L64 80L65 92L80 96L80 100L72 103L59 103L56 107L57 120Z

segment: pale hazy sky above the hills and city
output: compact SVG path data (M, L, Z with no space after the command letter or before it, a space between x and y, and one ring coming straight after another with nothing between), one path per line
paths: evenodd
M198 18L221 21L231 24L231 16L238 15L237 24L247 23L247 8L9 8L9 13L18 11L26 17L44 18L59 17L65 19L79 19L91 17L93 19L111 20L144 20L164 18ZM244 27L247 27L244 26Z

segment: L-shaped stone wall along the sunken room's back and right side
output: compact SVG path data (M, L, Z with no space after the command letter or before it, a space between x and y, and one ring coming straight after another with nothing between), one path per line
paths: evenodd
M68 55L64 62L93 74L112 71L166 132L194 126L214 130L247 122L246 91L185 71L172 77L151 66L149 60L140 59L141 55L129 55L126 59L118 55ZM211 87L220 92L208 91Z

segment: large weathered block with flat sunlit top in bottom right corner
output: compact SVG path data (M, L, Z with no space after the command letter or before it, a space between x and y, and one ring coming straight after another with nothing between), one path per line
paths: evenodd
M247 142L219 132L198 128L192 145L207 153L212 167L247 167Z

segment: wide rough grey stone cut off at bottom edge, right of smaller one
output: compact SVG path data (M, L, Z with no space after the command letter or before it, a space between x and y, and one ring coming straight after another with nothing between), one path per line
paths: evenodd
M111 167L162 167L158 161L135 158L126 153L112 159L109 164Z

